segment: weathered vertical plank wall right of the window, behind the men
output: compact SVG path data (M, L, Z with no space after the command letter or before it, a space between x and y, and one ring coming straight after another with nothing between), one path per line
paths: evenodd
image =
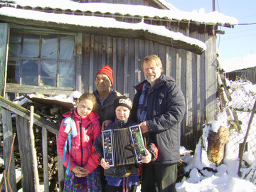
M182 122L181 144L195 147L201 128L216 115L215 38L196 31L186 35L206 42L208 49L197 55L153 41L82 34L82 92L92 92L95 75L102 66L113 69L113 88L131 99L134 85L144 80L141 68L146 55L159 55L164 74L171 75L186 97L186 115ZM206 40L206 41L205 41Z

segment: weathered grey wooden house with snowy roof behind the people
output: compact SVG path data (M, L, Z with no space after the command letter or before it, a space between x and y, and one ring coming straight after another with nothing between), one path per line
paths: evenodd
M65 3L64 3L65 2ZM142 59L159 55L186 97L181 144L194 149L217 118L216 34L235 18L179 11L164 0L0 1L1 95L70 95L95 90L104 65L131 98Z

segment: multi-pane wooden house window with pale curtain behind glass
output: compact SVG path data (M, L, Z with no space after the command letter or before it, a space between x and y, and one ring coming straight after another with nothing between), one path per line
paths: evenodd
M12 30L7 83L75 87L75 36Z

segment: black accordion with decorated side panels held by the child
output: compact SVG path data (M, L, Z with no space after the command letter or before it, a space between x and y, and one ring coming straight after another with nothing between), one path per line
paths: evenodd
M146 156L145 145L139 124L102 132L104 159L110 166L142 163Z

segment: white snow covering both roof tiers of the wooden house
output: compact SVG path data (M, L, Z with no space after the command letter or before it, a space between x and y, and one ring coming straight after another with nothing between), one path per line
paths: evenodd
M163 0L162 0L163 1ZM211 23L223 26L233 26L238 23L236 18L224 16L218 12L205 14L204 11L185 12L178 10L156 9L151 6L127 5L127 4L107 4L107 3L78 3L70 0L6 0L11 6L2 6L0 15L10 18L21 18L31 21L54 22L58 24L68 24L90 28L119 28L123 30L144 31L156 36L171 38L173 41L182 41L198 48L198 53L206 50L206 44L196 38L184 36L182 33L166 29L165 26L154 26L144 23L144 18L164 18L175 21L186 21L196 23ZM15 2L13 4L13 2ZM16 9L19 8L19 9ZM42 11L36 10L42 9ZM52 9L53 13L44 10ZM55 14L54 10L69 10L91 12L92 16L76 14ZM141 16L140 23L127 23L116 21L114 18L104 16L93 16L94 13L119 14L120 16ZM160 20L160 19L159 19ZM227 24L228 23L228 24ZM189 49L188 49L189 50ZM192 50L195 52L195 50ZM197 53L197 52L195 52Z

